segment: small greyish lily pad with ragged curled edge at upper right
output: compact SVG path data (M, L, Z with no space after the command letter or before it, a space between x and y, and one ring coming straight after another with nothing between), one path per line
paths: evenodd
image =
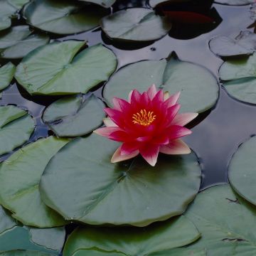
M235 38L216 36L210 40L210 50L219 56L249 55L256 50L256 35L250 31L241 31Z

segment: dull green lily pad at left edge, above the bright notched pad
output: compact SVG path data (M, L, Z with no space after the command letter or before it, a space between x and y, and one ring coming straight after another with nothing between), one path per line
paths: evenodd
M0 33L1 58L23 58L49 41L50 38L44 34L32 34L28 26L14 26Z

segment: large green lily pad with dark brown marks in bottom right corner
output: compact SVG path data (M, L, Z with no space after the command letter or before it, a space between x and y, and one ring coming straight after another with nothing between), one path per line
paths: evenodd
M185 215L201 233L189 249L206 248L208 256L256 254L256 208L229 185L199 193Z

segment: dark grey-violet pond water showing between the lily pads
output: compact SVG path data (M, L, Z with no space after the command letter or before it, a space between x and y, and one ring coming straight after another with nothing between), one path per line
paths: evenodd
M118 1L117 4L114 4L113 11L132 6L146 6L146 2ZM241 30L250 26L253 21L250 19L250 6L213 4L213 7L215 15L218 14L219 24L210 32L200 35L201 28L198 29L196 24L176 26L171 35L143 48L141 48L142 46L129 46L129 48L113 46L99 29L64 38L52 35L52 40L87 40L89 46L103 43L116 53L118 68L138 60L166 58L171 51L176 51L181 60L198 63L208 68L218 79L218 68L223 60L210 51L208 41L217 35L236 36ZM102 97L102 87L97 88L94 93L98 97ZM55 97L30 97L14 80L11 86L2 92L0 105L14 104L28 110L36 120L36 131L30 139L32 142L50 134L48 127L41 120L41 115L45 107L55 99ZM230 157L239 144L256 134L256 107L234 100L220 85L220 98L217 105L213 107L213 110L201 114L198 122L200 123L193 128L193 134L186 137L185 140L196 151L203 167L201 183L201 189L203 189L228 181ZM8 156L2 156L0 161Z

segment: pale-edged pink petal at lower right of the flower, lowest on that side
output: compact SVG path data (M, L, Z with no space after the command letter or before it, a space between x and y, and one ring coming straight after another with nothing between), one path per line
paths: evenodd
M175 139L168 145L160 146L159 151L164 154L190 154L191 149L181 139Z

